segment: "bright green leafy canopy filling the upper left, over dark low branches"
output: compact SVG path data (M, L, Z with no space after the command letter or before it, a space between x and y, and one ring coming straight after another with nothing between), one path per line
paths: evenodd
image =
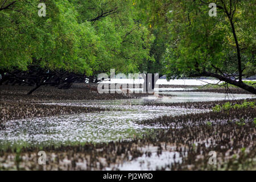
M9 1L6 2L6 4ZM51 70L83 73L135 72L151 60L154 35L138 23L133 1L20 0L0 10L0 70Z

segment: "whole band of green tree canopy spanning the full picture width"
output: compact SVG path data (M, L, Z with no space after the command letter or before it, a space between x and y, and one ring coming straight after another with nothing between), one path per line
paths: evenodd
M115 68L215 77L256 93L242 82L256 70L253 0L47 0L42 17L39 3L0 3L0 84L69 88Z

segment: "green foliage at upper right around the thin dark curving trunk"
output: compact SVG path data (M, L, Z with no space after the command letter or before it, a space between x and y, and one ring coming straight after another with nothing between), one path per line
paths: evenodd
M166 1L169 2L169 1ZM255 71L255 6L254 1L216 0L218 6L234 11L233 22L241 49L244 73ZM201 72L238 73L237 48L230 19L224 9L210 17L209 3L203 1L171 1L170 45L166 51L166 73L169 78L200 75ZM248 15L251 19L246 18ZM249 39L248 39L249 37Z

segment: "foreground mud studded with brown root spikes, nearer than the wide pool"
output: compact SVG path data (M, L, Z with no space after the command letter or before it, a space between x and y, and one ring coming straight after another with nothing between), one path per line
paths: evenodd
M173 152L171 161L155 169L255 170L255 124L251 121L256 112L253 108L236 111L151 119L143 123L160 123L170 129L154 129L129 141L6 148L0 151L1 168L17 169L11 163L19 156L19 169L122 169L140 158L147 163L150 156L157 154L160 158ZM243 125L234 122L240 119L240 114L246 118ZM209 126L209 119L212 124L205 127ZM233 122L228 122L230 119ZM40 150L47 151L46 166L35 163ZM209 151L217 152L217 165L208 164Z

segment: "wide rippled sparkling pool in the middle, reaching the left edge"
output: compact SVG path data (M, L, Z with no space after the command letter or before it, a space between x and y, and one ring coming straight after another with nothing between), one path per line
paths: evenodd
M82 102L72 104L86 106ZM98 106L100 107L100 105ZM106 107L106 105L102 107ZM162 126L139 125L135 121L157 118L162 115L203 112L199 109L164 106L110 105L110 108L113 107L126 110L9 121L0 134L0 140L1 143L36 145L110 142L139 137L147 129L163 128Z

